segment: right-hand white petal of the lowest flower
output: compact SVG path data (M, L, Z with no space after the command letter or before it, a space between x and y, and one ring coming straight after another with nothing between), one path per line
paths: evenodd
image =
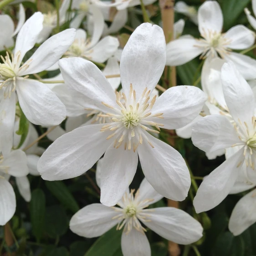
M143 210L144 211L144 210ZM154 208L147 212L150 221L144 222L151 230L169 241L188 245L203 236L203 227L188 213L174 207Z

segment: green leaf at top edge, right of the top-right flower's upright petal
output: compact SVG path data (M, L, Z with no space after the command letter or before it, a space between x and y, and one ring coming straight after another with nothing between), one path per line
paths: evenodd
M223 0L222 11L225 31L236 25L236 20L251 0Z

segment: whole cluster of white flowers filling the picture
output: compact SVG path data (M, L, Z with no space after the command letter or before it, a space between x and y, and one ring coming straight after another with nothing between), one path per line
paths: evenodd
M144 5L153 2L143 0ZM256 0L252 4L256 10ZM191 137L209 159L225 154L225 162L197 191L197 213L214 208L228 194L256 186L256 60L233 51L253 46L255 32L237 25L222 33L217 1L206 0L198 12L180 1L175 11L198 25L200 39L181 36L185 21L179 20L174 40L166 44L160 26L143 23L122 48L110 34L125 26L132 11L128 7L135 5L140 1L73 0L71 5L64 0L58 14L36 12L26 20L20 4L16 28L9 15L0 15L0 50L6 51L0 56L0 225L15 213L10 176L30 201L27 174L70 179L97 163L101 204L87 205L72 217L74 233L96 237L117 225L123 229L124 256L150 256L143 225L179 244L198 241L203 228L183 210L145 209L163 197L183 201L191 184L185 160L159 139L160 129ZM113 7L116 12L110 15ZM256 29L255 18L245 12ZM67 17L70 28L50 36ZM105 22L109 20L111 26ZM180 85L159 96L155 87L165 66L196 56L204 61L202 90ZM60 70L56 77L40 77L54 70ZM18 135L24 120L27 132ZM48 148L38 147L33 124L48 129L53 141ZM129 186L138 159L145 179L135 193ZM255 195L252 190L233 210L229 229L234 235L256 222Z

